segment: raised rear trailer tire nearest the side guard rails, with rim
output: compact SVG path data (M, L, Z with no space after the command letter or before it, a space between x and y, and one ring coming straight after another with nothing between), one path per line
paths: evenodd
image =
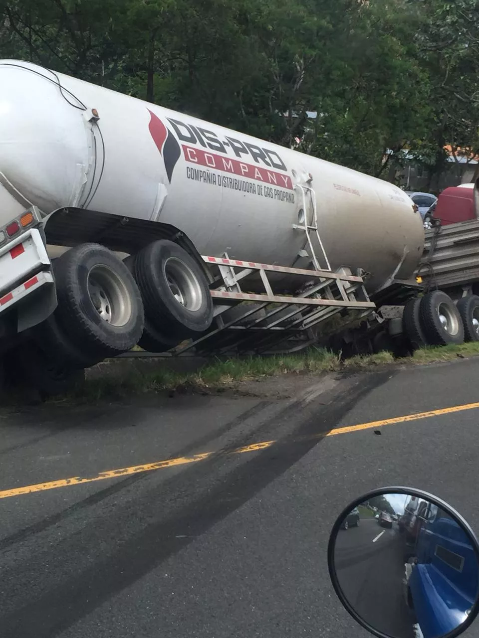
M133 274L146 316L169 338L199 337L213 321L213 299L201 265L167 239L135 255Z

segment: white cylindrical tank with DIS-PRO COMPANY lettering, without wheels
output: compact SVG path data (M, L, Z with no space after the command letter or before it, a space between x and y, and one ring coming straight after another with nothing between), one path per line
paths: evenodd
M0 61L0 202L6 186L45 213L170 223L202 255L303 268L312 251L294 226L316 204L331 268L370 272L370 291L411 276L423 250L420 216L388 182L14 60Z

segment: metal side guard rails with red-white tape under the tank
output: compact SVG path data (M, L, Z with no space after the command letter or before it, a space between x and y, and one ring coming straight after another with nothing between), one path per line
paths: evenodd
M193 350L197 355L296 352L316 343L315 328L331 316L352 310L367 316L376 308L365 290L367 273L363 271L353 274L346 267L337 272L291 268L231 259L227 253L221 257L202 256L202 260L211 273L213 324L208 334L168 356ZM268 277L270 273L294 274L305 282L294 295L284 295L275 292L275 285ZM246 292L252 278L256 290ZM258 286L262 292L258 292ZM241 304L245 312L228 319L225 313ZM291 311L284 312L285 309ZM136 355L131 353L131 356ZM151 356L158 355L151 353Z

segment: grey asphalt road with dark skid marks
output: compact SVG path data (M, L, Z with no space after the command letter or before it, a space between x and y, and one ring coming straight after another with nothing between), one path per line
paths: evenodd
M478 409L418 418L479 401L478 375L461 360L297 377L285 399L275 380L257 397L0 412L0 635L369 635L331 588L331 527L353 498L399 484L479 530Z

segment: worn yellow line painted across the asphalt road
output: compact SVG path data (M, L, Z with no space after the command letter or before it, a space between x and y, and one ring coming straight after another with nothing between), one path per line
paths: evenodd
M395 417L394 419L383 419L380 421L370 421L369 423L361 423L356 426L338 427L335 430L331 430L327 434L316 434L310 437L302 437L312 440L314 438L323 438L323 436L337 436L338 434L349 434L351 432L357 432L360 430L372 429L383 426L390 426L396 423L406 423L408 421L416 421L420 419L430 419L431 417L439 417L445 414L452 414L454 412L464 412L465 410L475 410L479 408L479 403L468 403L466 405L452 406L451 408L443 408L443 410L430 410L429 412L419 412L416 414L408 414L404 417ZM148 472L153 470L163 470L163 468L172 468L179 465L187 465L190 463L198 463L204 461L213 454L248 454L248 452L257 452L258 450L265 450L271 447L278 441L260 441L259 443L252 443L252 445L245 445L244 447L238 447L234 450L218 450L218 452L204 452L203 454L195 454L194 456L181 456L176 459L167 459L166 461L156 461L156 463L147 463L144 465L134 465L128 468L119 468L117 470L109 470L100 472L91 477L72 477L70 479L60 479L49 481L46 483L37 483L36 485L27 485L24 487L13 487L13 489L6 489L0 491L0 498L9 498L11 496L20 496L21 494L31 494L33 492L43 492L47 489L56 489L57 487L68 487L73 485L81 485L85 483L93 483L98 480L105 479L118 479L119 477L125 477L132 474L138 474L141 472ZM291 441L288 441L291 444Z

